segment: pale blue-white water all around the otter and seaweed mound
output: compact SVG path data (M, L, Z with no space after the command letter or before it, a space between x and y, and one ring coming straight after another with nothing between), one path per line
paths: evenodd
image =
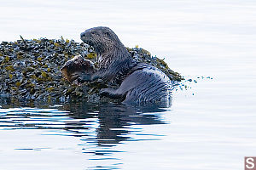
M169 109L2 101L1 170L238 170L256 156L255 1L0 3L0 41L80 41L84 29L109 26L193 79Z

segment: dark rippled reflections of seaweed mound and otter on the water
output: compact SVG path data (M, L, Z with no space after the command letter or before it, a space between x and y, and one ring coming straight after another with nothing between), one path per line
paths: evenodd
M7 108L7 109L6 109ZM140 108L127 105L88 105L83 103L53 105L48 108L21 106L0 108L0 131L37 130L40 136L68 136L79 138L80 153L90 156L88 161L109 161L109 166L89 169L119 169L121 161L115 154L125 153L115 146L124 142L159 140L161 135L143 133L137 125L163 124L161 114L166 109ZM32 137L36 138L36 137ZM46 144L47 146L47 144ZM16 147L20 151L53 150L45 147ZM69 150L64 148L63 150ZM110 163L111 162L111 163Z

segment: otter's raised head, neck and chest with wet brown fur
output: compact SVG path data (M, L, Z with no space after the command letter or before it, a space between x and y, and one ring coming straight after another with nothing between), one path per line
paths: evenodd
M92 75L92 81L102 78L107 81L118 81L131 74L131 68L137 62L131 59L119 37L108 27L96 27L81 33L81 39L95 48L99 71Z

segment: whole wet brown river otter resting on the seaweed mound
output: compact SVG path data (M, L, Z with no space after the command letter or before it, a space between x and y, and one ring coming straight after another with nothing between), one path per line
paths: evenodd
M102 88L101 94L122 99L124 104L171 102L172 82L158 68L132 59L119 37L108 27L94 27L81 33L81 40L95 48L99 70L79 77L80 81L119 82L118 89Z

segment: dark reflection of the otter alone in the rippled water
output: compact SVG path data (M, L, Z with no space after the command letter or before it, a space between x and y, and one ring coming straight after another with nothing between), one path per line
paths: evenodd
M86 120L93 117L97 118L96 136L85 141L98 145L107 144L106 146L119 144L125 140L133 140L127 135L134 130L131 125L164 124L165 122L161 121L160 115L161 112L166 111L166 109L155 106L135 107L118 104L90 105L87 103L65 105L64 109L70 111L68 116L73 119L83 119L85 122L84 124L79 122L71 124L69 122L66 124L65 130L72 132L75 136L86 136L88 135L86 131L84 132L84 129L88 128ZM93 114L95 111L96 113Z

